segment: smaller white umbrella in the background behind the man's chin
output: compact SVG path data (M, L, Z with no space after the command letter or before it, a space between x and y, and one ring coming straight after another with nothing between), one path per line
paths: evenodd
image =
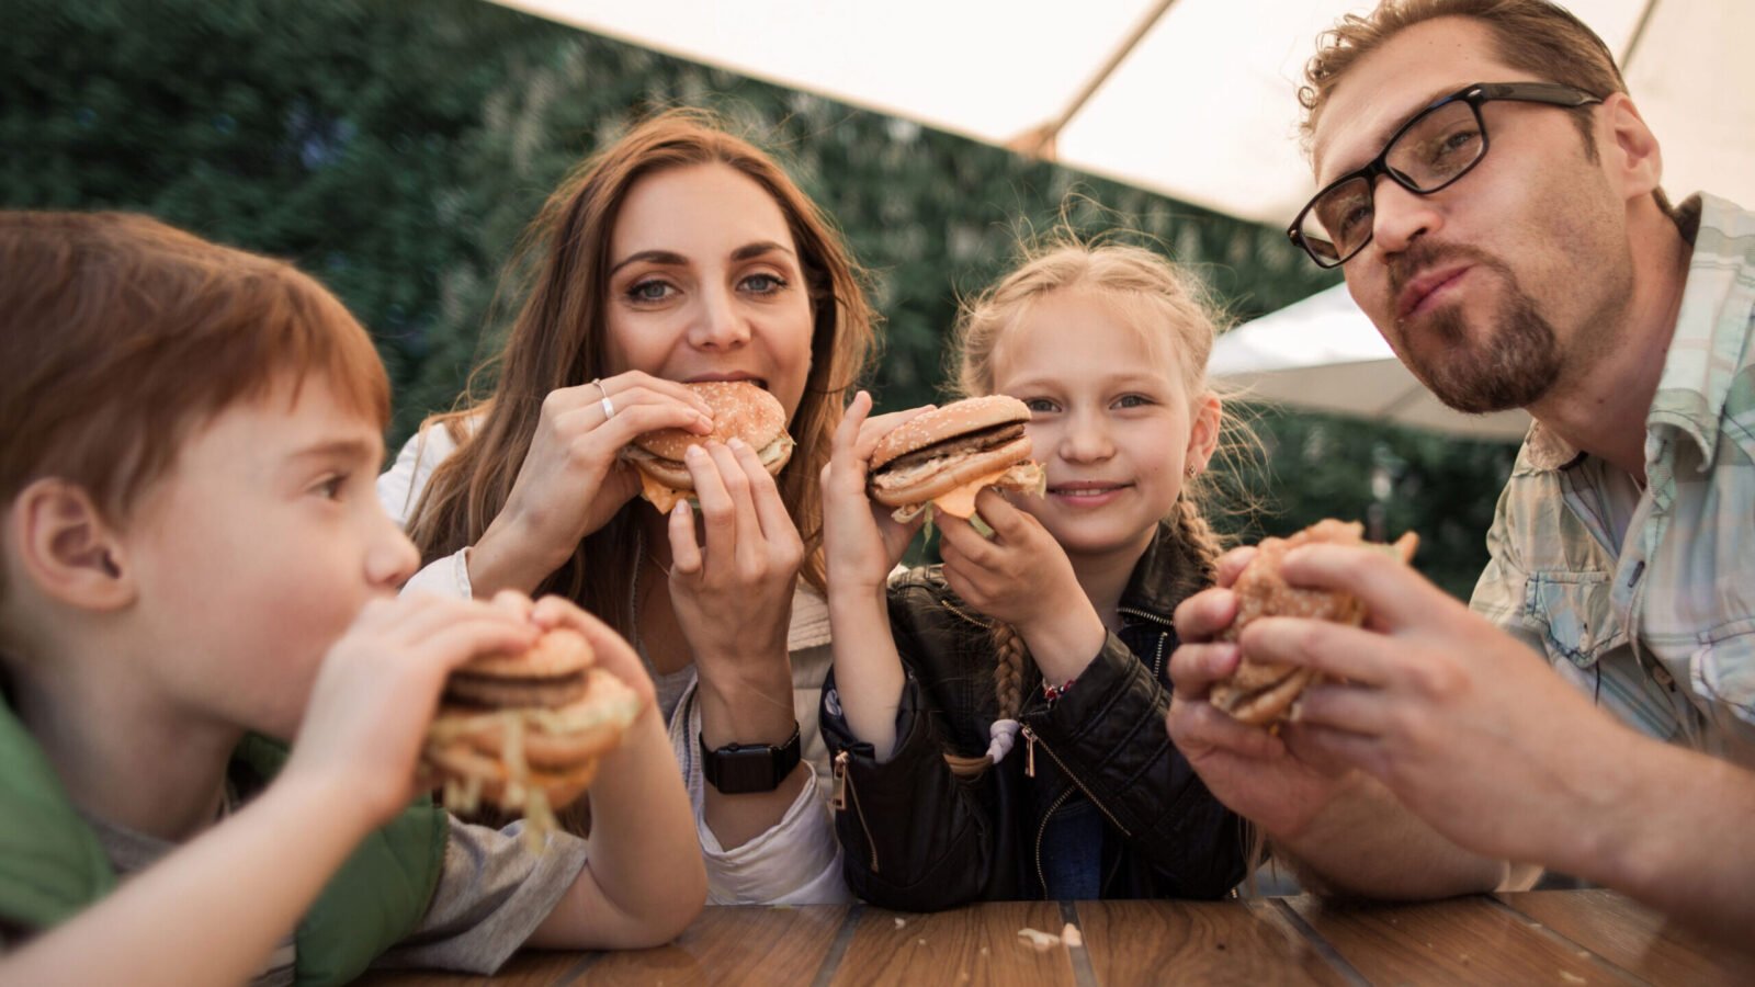
M1207 372L1267 400L1476 439L1518 441L1523 411L1462 414L1439 404L1358 311L1344 285L1244 323L1213 346Z

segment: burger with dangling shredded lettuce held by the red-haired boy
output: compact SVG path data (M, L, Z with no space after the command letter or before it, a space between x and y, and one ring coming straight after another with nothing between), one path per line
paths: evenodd
M553 829L553 810L584 794L597 759L641 713L639 695L595 659L577 630L556 629L526 652L455 669L421 750L446 806L469 813L486 799L523 811L535 839Z

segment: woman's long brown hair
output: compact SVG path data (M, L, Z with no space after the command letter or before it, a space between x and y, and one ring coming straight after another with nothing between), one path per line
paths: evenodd
M511 495L549 392L609 376L604 358L609 241L628 191L656 172L707 163L727 165L760 184L786 216L799 251L811 297L811 372L790 423L799 446L777 481L806 539L804 578L823 588L818 478L846 392L867 369L876 318L860 270L828 218L772 158L700 111L655 116L583 162L525 232L507 277L528 270L528 288L505 348L477 369L456 411L426 421L446 427L458 450L433 472L409 525L423 560L481 539ZM477 397L476 381L495 365L500 372L491 393ZM479 421L470 421L477 416ZM634 501L586 536L537 594L565 595L630 634L627 590L639 567L639 509L649 508Z

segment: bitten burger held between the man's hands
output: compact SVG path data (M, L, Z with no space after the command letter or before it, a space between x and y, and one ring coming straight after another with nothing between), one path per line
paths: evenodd
M1322 520L1292 537L1262 539L1255 558L1232 585L1232 592L1237 594L1237 618L1218 639L1237 641L1243 629L1262 616L1304 616L1350 627L1362 625L1365 604L1353 594L1293 587L1279 574L1286 551L1316 543L1365 544L1365 529L1358 522ZM1408 532L1395 544L1378 548L1406 564L1418 544L1420 537ZM1311 667L1257 662L1244 655L1237 662L1237 671L1213 685L1207 699L1244 724L1276 727L1286 718L1297 697L1318 680L1322 676Z

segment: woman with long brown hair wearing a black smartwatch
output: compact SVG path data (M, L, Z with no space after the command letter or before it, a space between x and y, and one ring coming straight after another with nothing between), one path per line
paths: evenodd
M816 541L818 478L872 344L853 262L767 155L688 111L586 162L525 242L541 255L493 393L430 420L379 479L426 562L409 587L553 592L604 615L656 680L709 899L841 901ZM706 434L683 383L718 379L779 399L792 462L770 478L753 450L711 443L686 464L700 522L688 504L660 515L618 451L655 429Z

